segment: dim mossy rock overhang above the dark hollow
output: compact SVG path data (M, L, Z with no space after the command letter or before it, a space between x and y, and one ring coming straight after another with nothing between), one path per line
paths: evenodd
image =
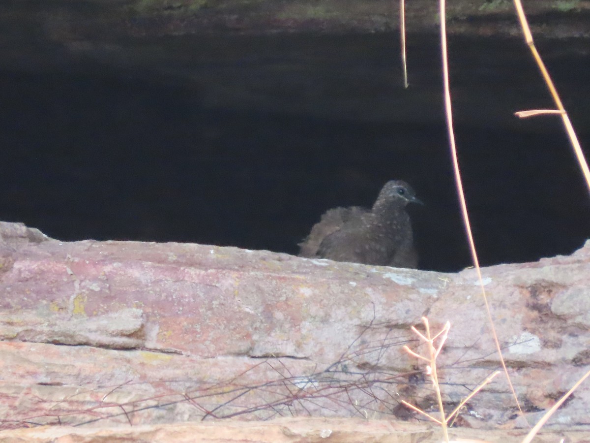
M4 14L15 25L42 25L48 39L65 41L71 50L116 53L116 45L96 47L93 35L179 35L240 32L383 32L399 27L399 8L389 2L298 0L89 0L84 5L55 1L34 6L9 3ZM438 27L438 2L407 2L410 32L430 32ZM586 34L586 2L556 4L537 0L525 5L533 32L550 37ZM509 1L460 0L449 2L447 28L461 35L520 35L514 5ZM36 12L36 14L34 14ZM549 25L548 25L549 24ZM107 33L106 31L110 31Z

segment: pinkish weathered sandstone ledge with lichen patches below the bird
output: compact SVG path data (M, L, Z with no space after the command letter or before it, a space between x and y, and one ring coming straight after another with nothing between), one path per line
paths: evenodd
M498 376L453 432L519 441L590 368L590 244L483 273L525 417ZM0 222L0 292L0 441L437 441L399 404L434 410L401 350L417 346L409 326L451 321L439 361L449 408L499 367L473 269L66 243ZM590 441L589 409L585 384L545 434Z

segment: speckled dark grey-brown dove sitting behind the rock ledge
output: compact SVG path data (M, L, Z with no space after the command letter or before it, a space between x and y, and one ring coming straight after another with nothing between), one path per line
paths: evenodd
M371 210L359 206L330 209L299 243L299 256L416 268L418 254L405 211L408 203L422 204L405 181L391 180L383 186Z

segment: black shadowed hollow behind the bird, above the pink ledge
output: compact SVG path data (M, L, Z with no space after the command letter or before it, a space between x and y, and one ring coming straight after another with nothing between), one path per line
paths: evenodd
M61 240L297 253L326 209L371 206L383 183L399 178L426 203L409 209L420 268L468 266L438 36L409 36L408 90L397 41L395 33L185 35L140 39L126 53L5 51L0 219ZM482 264L571 253L590 234L588 192L560 120L512 116L552 106L525 44L450 43ZM539 46L588 152L582 43Z

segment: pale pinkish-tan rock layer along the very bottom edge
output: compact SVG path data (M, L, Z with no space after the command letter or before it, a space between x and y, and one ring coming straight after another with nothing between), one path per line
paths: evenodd
M526 431L481 431L478 429L451 429L451 439L470 439L490 443L518 443ZM571 430L565 435L571 443L588 442L582 431ZM549 443L557 435L542 431L535 441ZM208 443L260 442L260 443L434 443L441 441L441 432L435 426L392 422L386 420L341 418L290 418L268 422L207 422L171 425L140 425L126 428L71 428L70 426L44 426L34 429L0 431L5 443L99 443L112 441L166 441Z

